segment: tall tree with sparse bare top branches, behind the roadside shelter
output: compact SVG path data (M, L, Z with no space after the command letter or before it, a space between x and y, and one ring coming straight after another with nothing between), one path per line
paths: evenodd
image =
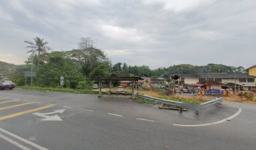
M82 73L88 76L94 68L102 63L110 63L104 51L97 49L90 37L81 37L78 42L79 49L69 52L69 57L82 66Z

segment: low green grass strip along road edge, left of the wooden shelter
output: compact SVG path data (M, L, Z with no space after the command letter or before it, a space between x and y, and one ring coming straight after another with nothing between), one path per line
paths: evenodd
M65 92L65 93L77 93L77 94L99 94L98 91L92 91L87 89L68 89L68 88L42 88L38 86L28 87L28 86L20 86L22 89L33 89L38 91L53 91L53 92ZM102 94L107 94L102 92Z

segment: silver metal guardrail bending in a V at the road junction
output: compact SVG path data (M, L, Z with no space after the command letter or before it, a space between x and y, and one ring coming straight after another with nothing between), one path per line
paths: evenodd
M194 104L194 103L183 103L183 102L179 102L179 101L169 101L169 100L166 100L166 99L154 98L154 97L151 97L151 96L145 96L145 95L141 95L141 94L138 94L138 96L139 96L139 98L149 99L151 101L157 101L159 103L169 104L171 106L176 106L176 107L179 107L179 108L186 108L186 109L195 111L196 114L199 114L199 111L201 109L207 108L208 106L212 106L212 105L217 104L217 103L220 103L221 99L222 99L222 98L216 98L216 99L213 99L213 100L208 101L206 103Z

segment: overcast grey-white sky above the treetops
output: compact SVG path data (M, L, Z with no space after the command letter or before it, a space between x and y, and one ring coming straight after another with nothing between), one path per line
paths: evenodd
M113 63L256 64L255 0L0 0L0 61L23 64L24 40L55 51L92 37Z

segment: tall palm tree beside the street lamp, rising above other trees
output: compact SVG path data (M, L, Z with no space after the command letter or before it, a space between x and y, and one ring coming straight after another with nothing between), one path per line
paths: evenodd
M40 37L36 36L33 39L35 41L35 43L33 43L33 46L27 46L29 48L33 48L33 54L32 50L28 51L28 53L31 53L31 56L35 55L35 60L37 61L36 67L38 68L40 61L46 61L47 51L49 51L51 48L49 46L46 46L48 44L48 41L43 41L43 38L41 39Z

